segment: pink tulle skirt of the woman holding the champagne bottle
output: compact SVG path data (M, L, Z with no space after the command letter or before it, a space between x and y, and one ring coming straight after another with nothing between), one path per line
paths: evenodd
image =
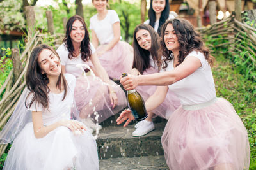
M216 98L185 107L170 116L161 139L170 169L249 169L247 131L232 104Z

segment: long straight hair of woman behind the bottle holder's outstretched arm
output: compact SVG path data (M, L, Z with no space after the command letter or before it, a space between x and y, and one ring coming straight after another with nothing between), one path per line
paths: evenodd
M150 50L145 50L141 48L140 45L138 44L138 41L136 39L136 34L141 29L147 30L151 36ZM150 54L154 62L157 62L157 66L160 69L161 57L159 57L159 48L160 48L159 39L160 38L157 32L154 31L154 29L150 25L140 24L135 28L134 34L133 34L134 60L133 60L132 68L138 69L140 74L143 74L145 69L148 69L150 67L150 59L149 59Z

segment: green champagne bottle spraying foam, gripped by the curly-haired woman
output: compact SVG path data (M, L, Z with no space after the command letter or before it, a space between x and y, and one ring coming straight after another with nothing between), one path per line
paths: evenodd
M122 76L125 77L127 74L124 73ZM135 120L141 121L148 117L145 102L136 90L127 90L127 103Z

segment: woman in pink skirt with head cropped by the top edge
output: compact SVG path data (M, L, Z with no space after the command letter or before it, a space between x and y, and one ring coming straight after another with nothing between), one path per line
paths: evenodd
M119 79L122 73L131 72L132 46L120 41L120 20L116 11L107 10L108 0L92 3L98 12L90 18L93 46L109 77Z

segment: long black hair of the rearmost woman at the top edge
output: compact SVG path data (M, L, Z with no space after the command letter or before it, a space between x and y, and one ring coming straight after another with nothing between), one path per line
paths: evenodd
M149 25L151 25L153 28L155 26L155 22L156 22L156 12L153 10L153 3L154 0L150 1L150 7L148 10L148 18L149 18ZM166 22L166 20L169 17L169 12L170 12L170 5L169 5L169 0L165 0L165 7L164 10L161 13L161 17L159 19L159 27L157 29L157 33L160 36L161 33L161 27L164 24L164 22Z

